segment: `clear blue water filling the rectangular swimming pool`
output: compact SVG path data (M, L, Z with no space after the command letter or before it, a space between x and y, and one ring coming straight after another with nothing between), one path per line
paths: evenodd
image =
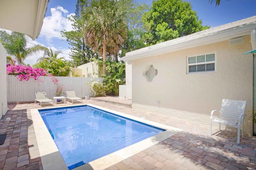
M38 111L70 170L165 131L86 105Z

